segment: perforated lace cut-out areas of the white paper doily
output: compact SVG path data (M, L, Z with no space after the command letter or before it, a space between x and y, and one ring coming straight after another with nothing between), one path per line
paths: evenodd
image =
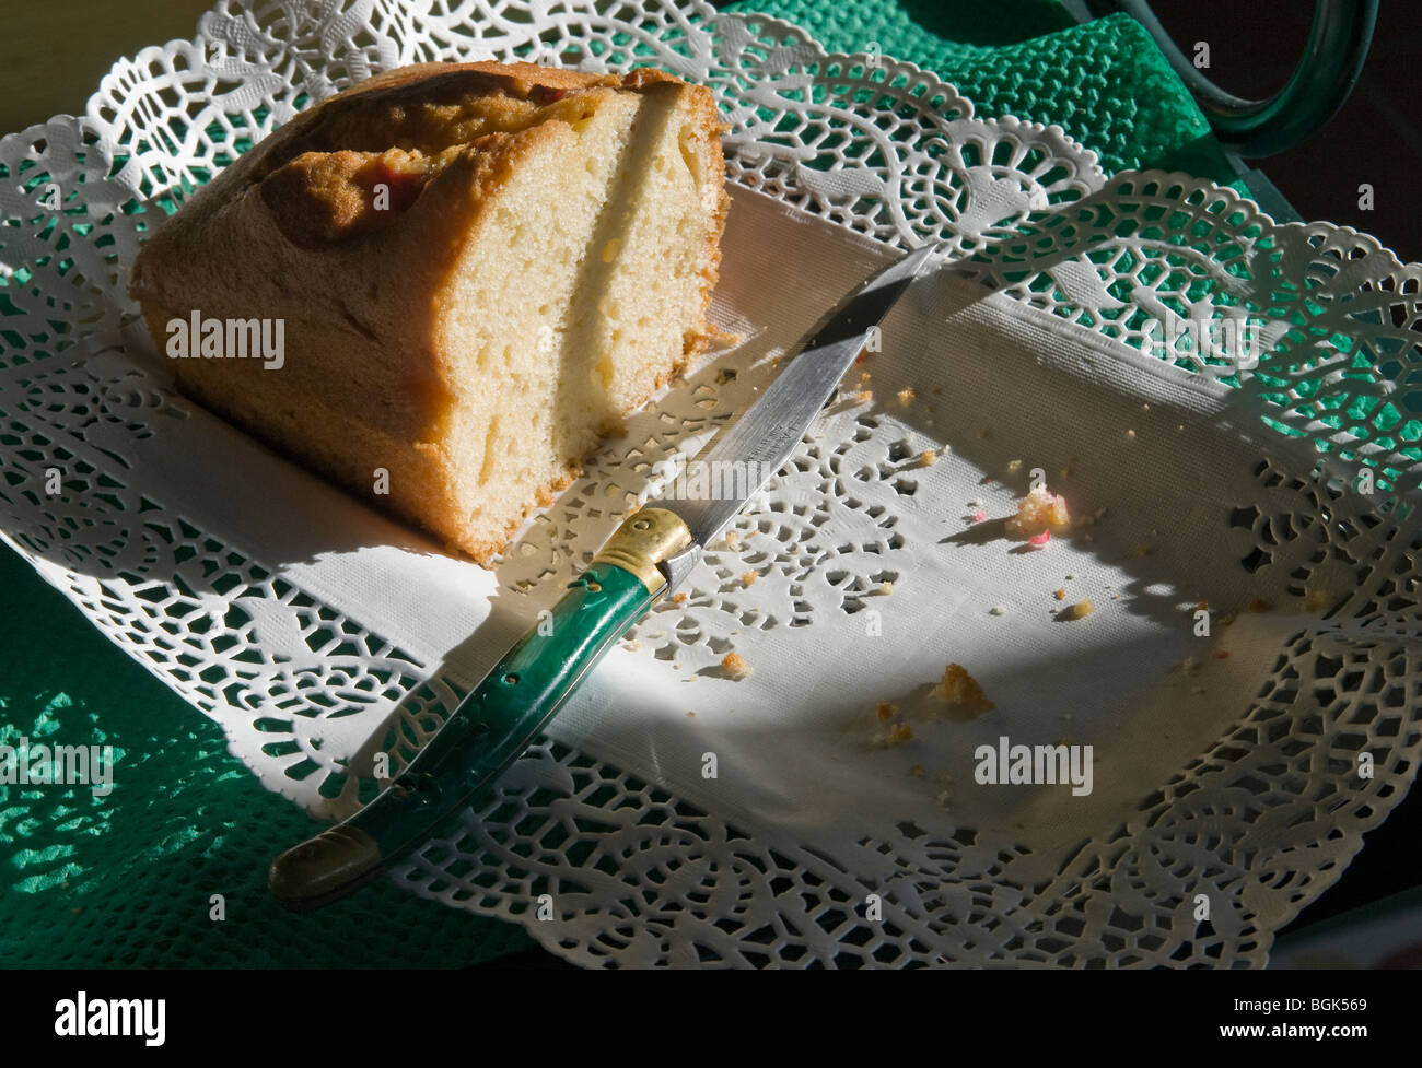
M1230 535L1240 565L1263 578L1305 591L1324 575L1338 588L1344 568L1352 592L1288 641L1229 737L1055 872L971 828L944 841L886 828L826 856L545 741L398 878L536 936L533 902L552 893L560 923L546 937L584 963L1261 963L1273 927L1335 878L1422 744L1408 518L1416 425L1395 418L1415 410L1415 268L1352 231L1274 226L1209 183L1108 183L1061 129L977 119L910 64L826 55L789 24L698 3L219 4L192 41L115 64L85 116L0 142L0 205L14 223L0 234L10 544L219 720L264 784L323 815L353 811L370 784L350 771L368 768L326 751L319 727L374 709L385 729L363 751L392 750L398 764L461 690L144 483L127 450L186 409L114 347L132 312L127 273L155 213L307 102L397 64L529 55L653 62L707 82L731 125L734 180L890 244L941 241L985 284L1105 337L1139 344L1143 317L1162 308L1266 315L1261 366L1229 378L1246 410L1263 402L1273 423L1254 429L1285 459L1239 473L1256 480L1257 503L1241 506ZM77 359L81 341L101 355ZM1219 376L1207 361L1179 362ZM644 413L626 449L538 520L499 581L550 595L547 579L646 496L646 472L684 454L755 381L698 381ZM927 480L887 430L865 406L832 412L739 520L742 551L712 548L687 599L631 641L710 668L732 631L860 611L899 578L914 537L902 500ZM1392 490L1385 507L1340 489L1338 469L1314 466L1315 449L1344 476L1376 469ZM41 489L55 467L60 496ZM1291 714L1304 693L1325 694L1321 714ZM1379 774L1359 785L1362 748ZM862 916L870 888L883 922ZM1202 889L1230 905L1190 934Z

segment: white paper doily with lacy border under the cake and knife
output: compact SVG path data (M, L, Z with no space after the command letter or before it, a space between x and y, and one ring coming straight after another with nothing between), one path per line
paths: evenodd
M461 653L428 635L419 641L415 619L429 605L402 608L398 589L381 592L391 625L370 623L358 591L344 581L383 574L388 555L353 552L341 571L273 550L282 535L266 528L246 528L239 538L235 518L226 537L223 507L239 511L236 491L226 504L199 498L201 487L181 481L185 460L172 446L225 433L220 447L257 453L235 432L213 429L219 425L209 416L172 395L161 365L137 355L144 342L132 327L122 328L132 311L127 274L162 206L181 202L306 104L405 62L529 55L590 68L654 64L711 85L731 125L725 142L735 183L889 246L947 241L964 277L995 293L980 310L964 311L960 328L977 339L974 351L995 354L1000 364L964 358L941 382L934 375L947 372L912 359L876 369L877 408L846 402L830 412L765 506L742 517L739 550L712 552L687 601L664 605L637 628L599 673L592 696L570 707L569 726L555 731L563 740L535 747L496 801L466 814L458 832L398 878L451 905L522 922L583 963L1263 963L1271 932L1337 878L1362 832L1405 792L1422 748L1415 581L1422 423L1406 408L1422 385L1415 332L1422 274L1367 236L1328 224L1276 226L1250 202L1206 182L1163 173L1108 180L1092 153L1059 129L977 119L951 87L909 64L826 55L795 27L721 16L700 3L637 0L604 13L592 3L485 0L219 4L192 41L115 64L85 116L58 116L0 142L6 540L114 642L222 723L233 751L270 788L321 815L348 812L368 797L371 784L347 774L346 761L363 771L375 750L392 751L397 765L408 758L476 677L486 649L512 638L516 621L556 594L552 579L584 561L630 500L646 496L653 464L694 449L769 371L762 364L725 381L717 364L694 374L657 410L633 420L621 447L593 463L495 574L471 579L468 564L414 561L425 578L438 572L451 585L475 582L475 592L513 604L502 615L498 605L493 612L465 606L465 621L462 602L451 599L449 626L479 626L485 646ZM738 195L732 226L738 212L761 210L758 197ZM765 222L774 226L771 216ZM786 240L795 240L796 227L786 226ZM734 234L728 240L729 267L737 249ZM806 233L805 249L819 247L816 240L823 241L819 230ZM843 291L882 254L865 243L855 247L859 260L846 253L843 263L820 249L828 266L818 276L806 266L806 287ZM813 257L792 261L812 264ZM921 338L927 349L926 324L953 320L967 284L944 285L939 304L906 310L904 335ZM735 285L725 273L721 310L755 308L754 285ZM1166 374L1165 362L1130 348L1146 339L1148 318L1227 318L1241 310L1267 321L1270 351L1253 372L1236 376L1233 368L1176 351L1172 364L1204 372L1190 385L1189 375ZM806 304L795 314L809 311ZM808 321L786 314L775 329L757 318L727 325L748 325L752 335L764 329L752 341L771 355ZM1049 366L1057 349L1078 365ZM737 702L775 700L781 656L803 658L798 668L784 666L798 680L825 679L826 665L848 663L862 645L856 616L863 611L882 611L886 625L896 614L912 621L937 611L930 602L941 601L941 591L920 584L916 592L912 578L933 574L934 561L961 545L966 527L943 525L923 501L960 493L970 472L1001 473L1020 443L1000 433L970 436L956 442L951 462L920 467L914 457L941 442L947 412L934 427L886 400L907 386L927 395L933 382L940 382L934 389L991 383L995 366L1015 366L1012 352L1034 354L1021 374L1045 368L1041 374L1061 376L1051 381L1066 393L1075 379L1118 383L1121 395L1102 402L1115 406L1092 409L1106 427L1125 426L1122 398L1132 406L1153 398L1155 415L1139 423L1148 452L1158 447L1152 430L1170 429L1165 412L1183 427L1197 409L1209 435L1230 439L1212 452L1213 437L1190 422L1190 433L1200 435L1192 445L1202 442L1217 460L1199 469L1213 480L1200 496L1214 506L1236 501L1216 508L1210 531L1229 548L1227 568L1192 557L1190 545L1153 541L1149 524L1102 527L1102 567L1128 575L1112 587L1111 596L1132 614L1119 625L1159 638L1149 656L1172 648L1173 639L1160 635L1182 625L1186 591L1138 568L1129 560L1133 544L1150 543L1160 574L1194 574L1202 587L1233 589L1226 574L1233 571L1247 575L1240 585L1273 602L1327 595L1314 615L1261 616L1267 626L1240 639L1253 642L1254 662L1267 656L1270 669L1263 685L1247 675L1221 683L1236 696L1249 689L1221 720L1227 729L1199 744L1180 740L1186 758L1146 783L1133 804L1103 807L1094 821L1105 829L1074 842L1047 817L1041 841L1031 841L1034 817L1042 817L1031 804L975 814L968 805L968 815L981 819L950 807L924 827L921 790L902 768L883 790L890 800L877 808L866 802L863 815L846 812L830 841L823 827L796 825L795 817L813 822L806 814L820 811L818 801L789 791L789 770L781 781L774 764L757 765L754 736L725 739L737 758L727 763L744 768L732 797L708 792L677 770L673 754L701 746L697 734L673 733L665 707L643 710L647 734L665 751L653 746L648 756L640 731L624 743L609 733L617 726L613 706L636 713L638 694L665 696L673 663L693 679L695 723L714 723ZM882 382L892 382L887 392ZM985 393L981 410L997 410L1001 426L1011 400ZM951 410L953 402L943 403ZM1096 402L1084 388L1079 403ZM191 426L198 422L201 433ZM1076 447L1082 466L1092 449L1103 466L1122 446L1086 435ZM1189 457L1176 472L1170 449L1159 449L1155 470L1189 477ZM276 484L300 479L267 463ZM1357 491L1364 467L1376 483L1372 494ZM55 496L44 491L51 470L63 474ZM1001 514L1008 489L993 484L978 496ZM1103 489L1086 481L1081 500ZM1187 493L1165 484L1142 496L1169 508ZM960 507L966 501L954 498L951 510ZM311 506L306 518L317 523L316 511ZM300 520L252 523L300 527ZM936 534L930 520L941 527ZM388 524L365 521L377 535L394 537ZM239 548L237 540L267 551ZM398 544L421 551L408 534ZM1047 567L1047 560L1022 567ZM749 571L754 585L744 578ZM884 584L896 592L880 606ZM961 601L950 608L966 611ZM818 652L786 643L788 635L805 633L815 635ZM1055 633L1075 632L1044 629L1031 641L1041 648ZM1014 641L1027 648L1027 638ZM739 685L745 689L728 692L714 665L732 646L747 650L758 670ZM948 659L912 652L896 653L906 709L921 703L923 673L936 676ZM889 650L880 659L892 659ZM1243 649L1237 659L1246 660ZM1012 704L1008 675L991 690L1004 707ZM1069 689L1071 669L1064 679ZM829 682L850 694L846 704L863 704L850 693L855 680ZM873 680L880 692L882 683ZM872 702L865 712L872 723ZM1129 737L1121 710L1108 712L1101 723L1069 730ZM1138 712L1142 723L1159 714ZM656 714L663 719L653 724ZM589 726L594 720L611 729L597 733L602 727ZM596 751L626 760L599 760L567 744L583 730ZM859 729L843 736L850 734L857 739ZM1122 744L1129 751L1145 743ZM830 748L826 743L825 753ZM1372 778L1358 775L1361 751L1374 757ZM897 751L865 760L907 761ZM887 763L867 767L879 771L860 785L876 775L887 781ZM654 778L680 778L681 788L670 791ZM1118 790L1129 780L1116 773ZM731 773L727 781L735 781ZM903 819L880 818L900 802ZM929 797L926 811L941 810ZM776 812L786 818L776 821ZM550 923L536 919L545 893L556 910ZM869 895L882 919L867 908ZM1207 923L1193 917L1199 895L1212 905Z

